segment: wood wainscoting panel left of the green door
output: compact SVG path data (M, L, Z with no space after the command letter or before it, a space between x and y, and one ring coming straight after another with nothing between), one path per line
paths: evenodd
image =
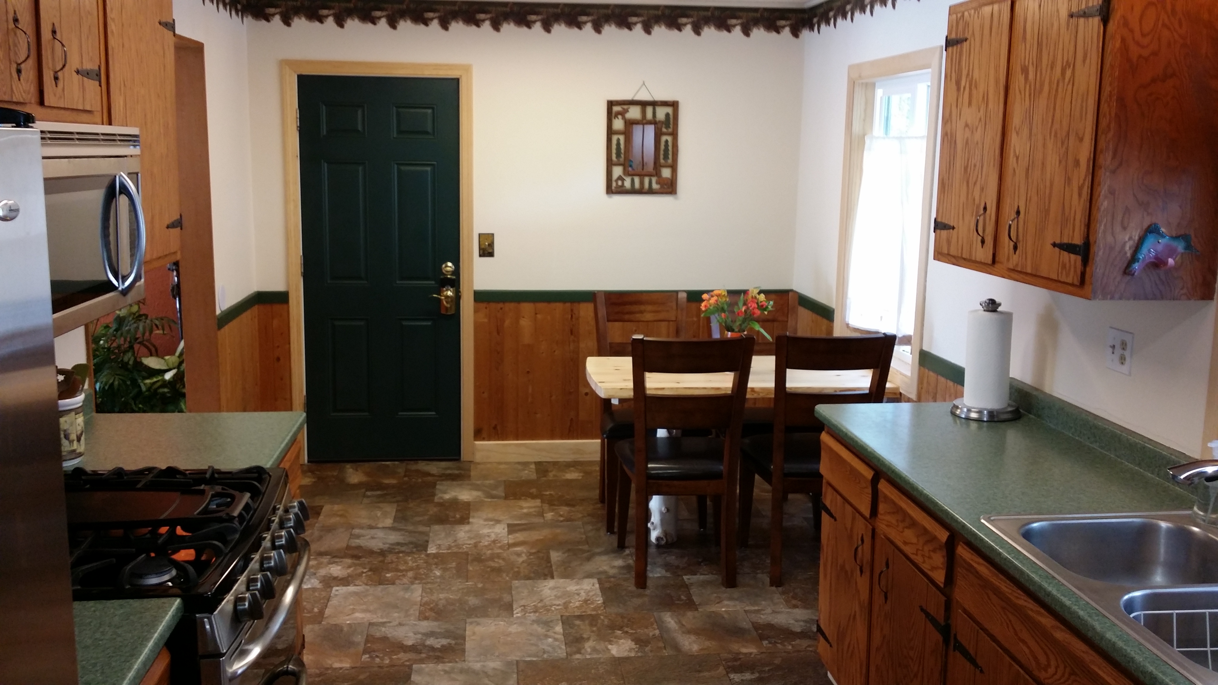
M259 303L219 330L220 411L292 408L287 305Z

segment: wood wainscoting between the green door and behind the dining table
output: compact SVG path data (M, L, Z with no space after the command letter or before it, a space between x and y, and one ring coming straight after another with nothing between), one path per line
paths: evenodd
M689 293L686 330L709 338L700 293ZM833 322L803 307L788 308L786 296L777 300L782 307L781 321L773 322L777 330L787 330L787 312L794 312L800 335L833 334ZM475 302L474 439L599 439L600 399L585 378L587 358L596 353L592 302Z

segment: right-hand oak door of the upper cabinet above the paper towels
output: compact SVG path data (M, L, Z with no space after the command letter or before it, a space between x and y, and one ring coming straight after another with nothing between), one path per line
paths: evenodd
M1104 22L1095 0L1015 0L999 255L1009 268L1083 283Z

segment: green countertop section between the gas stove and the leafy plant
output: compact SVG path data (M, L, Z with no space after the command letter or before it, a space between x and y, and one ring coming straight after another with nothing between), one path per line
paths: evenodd
M85 417L84 460L77 466L274 467L303 427L303 412L95 413Z

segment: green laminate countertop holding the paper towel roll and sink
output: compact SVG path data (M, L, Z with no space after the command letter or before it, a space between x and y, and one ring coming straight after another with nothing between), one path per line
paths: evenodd
M821 405L816 414L885 477L1147 685L1188 685L1086 600L990 530L988 514L1180 511L1192 499L1043 421L980 423L944 403Z

